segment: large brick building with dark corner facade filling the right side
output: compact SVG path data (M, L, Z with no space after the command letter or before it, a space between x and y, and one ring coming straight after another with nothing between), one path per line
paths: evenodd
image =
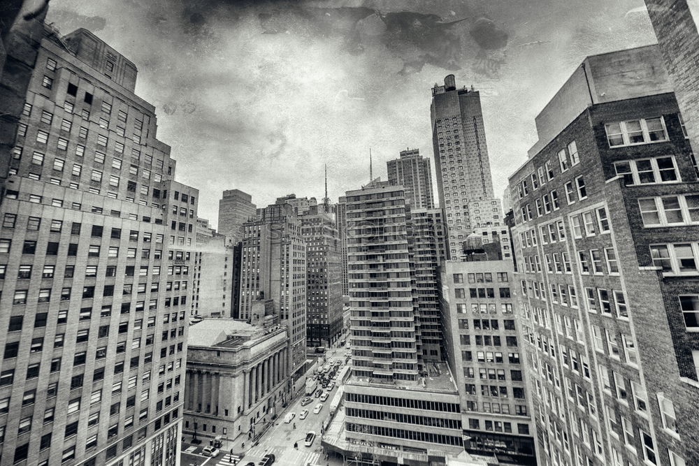
M657 45L587 57L510 177L540 464L699 461L699 183Z

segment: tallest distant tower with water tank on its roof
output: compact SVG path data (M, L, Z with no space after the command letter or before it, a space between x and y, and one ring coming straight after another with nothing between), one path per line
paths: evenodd
M454 75L432 88L432 143L437 191L448 229L447 256L463 256L461 244L477 226L502 224L493 195L480 93L456 89Z

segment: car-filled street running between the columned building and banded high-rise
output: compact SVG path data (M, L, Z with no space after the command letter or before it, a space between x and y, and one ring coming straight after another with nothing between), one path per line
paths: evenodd
M345 363L345 352L347 349L345 347L331 348L326 351L326 362L333 362L336 360L342 361L343 365ZM342 369L343 365L338 367L338 372ZM339 466L342 465L342 461L336 458L325 458L325 453L322 451L321 447L321 428L323 421L325 421L330 415L330 404L333 400L333 396L337 393L338 386L336 385L332 391L329 393L329 397L325 402L321 402L320 398L315 398L314 395L310 395L312 402L308 405L301 406L301 400L305 398L305 393L298 395L294 400L291 401L289 406L284 409L284 411L279 413L278 418L275 419L275 424L273 427L269 428L264 435L259 439L257 445L252 446L245 452L245 457L243 458L238 466L247 465L249 462L254 462L256 465L259 460L268 453L272 453L276 460L275 465L331 465ZM323 405L321 411L318 414L313 413L313 408L321 403ZM308 409L308 416L305 419L299 418L301 412L304 409ZM293 412L296 414L293 421L290 423L284 423L284 416L288 413ZM294 428L296 425L296 428ZM316 434L315 440L312 446L304 446L305 436L308 432L313 431ZM294 442L298 444L298 449L294 449ZM246 445L247 446L247 445ZM198 455L187 455L183 453L182 464L189 465L194 464L193 460L196 460ZM219 456L216 458L210 458L208 461L204 460L203 457L199 457L201 460L196 461L199 465L207 466L231 466L228 460L228 455L224 449Z

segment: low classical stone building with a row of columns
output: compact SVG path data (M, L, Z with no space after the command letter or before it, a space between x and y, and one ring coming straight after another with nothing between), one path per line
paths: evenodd
M289 338L277 322L204 319L189 328L186 436L240 446L270 425L289 400Z

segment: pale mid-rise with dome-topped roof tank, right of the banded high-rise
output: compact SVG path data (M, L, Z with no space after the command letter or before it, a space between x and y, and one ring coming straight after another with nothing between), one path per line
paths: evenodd
M446 261L440 274L445 359L460 388L466 450L535 465L512 260L481 235L466 244L466 259Z

